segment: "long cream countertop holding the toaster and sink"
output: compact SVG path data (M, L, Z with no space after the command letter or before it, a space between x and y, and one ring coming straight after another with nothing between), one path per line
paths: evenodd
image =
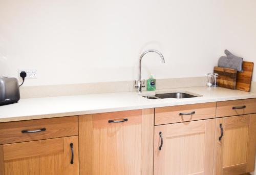
M189 92L190 94L201 95L201 97L156 100L142 97L142 95L154 95L156 92ZM219 87L209 88L207 86L165 89L157 90L156 92L145 91L140 95L136 92L124 92L20 99L18 103L0 106L0 122L256 98L256 93L252 92L229 90Z

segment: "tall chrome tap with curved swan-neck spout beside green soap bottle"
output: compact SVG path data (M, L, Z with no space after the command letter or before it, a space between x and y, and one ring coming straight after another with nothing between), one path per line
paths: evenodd
M150 49L150 50L146 50L145 52L143 52L143 53L141 54L140 60L139 60L139 80L138 80L138 81L135 80L135 88L138 89L138 92L139 92L139 93L141 93L141 92L142 92L142 88L145 87L145 80L144 80L144 79L141 80L141 60L142 60L143 56L144 56L145 54L147 54L148 52L155 52L155 53L157 53L157 54L161 57L162 62L165 63L165 60L164 60L163 55L161 54L161 52L159 52L159 51L157 51L157 50Z

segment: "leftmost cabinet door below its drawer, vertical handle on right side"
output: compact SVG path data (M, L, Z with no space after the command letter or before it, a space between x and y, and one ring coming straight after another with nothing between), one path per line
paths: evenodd
M79 174L78 136L1 145L1 152L1 175Z

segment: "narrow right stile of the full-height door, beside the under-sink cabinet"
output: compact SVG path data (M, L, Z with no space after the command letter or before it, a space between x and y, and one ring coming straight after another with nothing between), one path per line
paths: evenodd
M142 110L141 174L153 175L154 108Z

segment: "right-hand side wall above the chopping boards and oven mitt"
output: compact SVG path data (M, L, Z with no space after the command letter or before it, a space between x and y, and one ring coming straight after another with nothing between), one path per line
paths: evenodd
M256 1L223 1L221 49L254 62L256 81Z

